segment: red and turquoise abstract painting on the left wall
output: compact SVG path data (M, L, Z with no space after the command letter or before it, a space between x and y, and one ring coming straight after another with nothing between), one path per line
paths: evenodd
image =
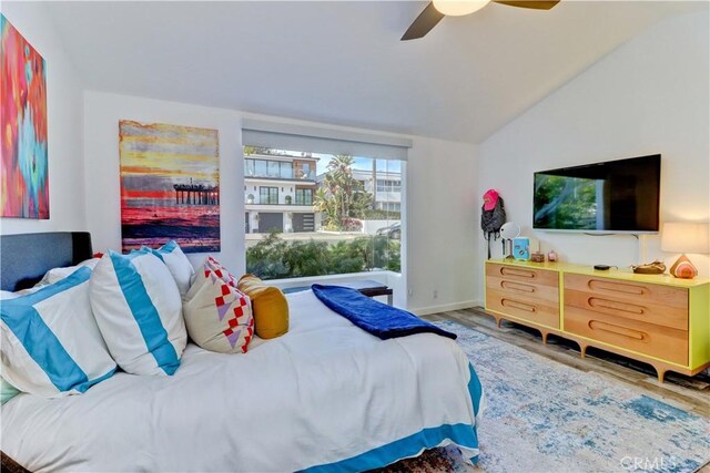
M47 64L0 14L1 217L49 218Z

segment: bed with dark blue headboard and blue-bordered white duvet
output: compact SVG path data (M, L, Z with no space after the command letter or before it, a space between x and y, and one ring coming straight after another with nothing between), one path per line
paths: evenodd
M1 243L4 290L91 255L87 234ZM81 395L17 395L2 405L2 452L32 472L365 471L450 443L475 462L483 392L454 340L381 340L310 290L288 305L288 333L245 354L190 343L172 377L119 372Z

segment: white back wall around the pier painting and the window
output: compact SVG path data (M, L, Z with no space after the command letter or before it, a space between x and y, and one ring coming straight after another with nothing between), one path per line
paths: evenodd
M220 131L222 253L219 257L234 273L243 273L244 165L241 124L242 119L247 116L313 125L231 110L85 92L87 222L94 247L119 249L121 246L119 121L212 127ZM395 304L422 312L470 306L475 294L477 237L474 225L475 147L410 137L414 147L405 166L409 217L405 222L408 239L404 267L408 269L405 269L403 278L393 278L393 284L397 286ZM199 264L204 255L190 255L190 258L193 264ZM404 289L407 280L412 289L408 298Z

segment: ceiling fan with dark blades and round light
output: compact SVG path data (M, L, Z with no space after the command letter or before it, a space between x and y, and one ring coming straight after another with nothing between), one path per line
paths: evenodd
M434 0L426 6L416 20L402 37L402 41L423 38L432 31L444 17L462 17L480 10L490 2L503 3L509 7L530 8L534 10L549 10L559 3L559 0Z

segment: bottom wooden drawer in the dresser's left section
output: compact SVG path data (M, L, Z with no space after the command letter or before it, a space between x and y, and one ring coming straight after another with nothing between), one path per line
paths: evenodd
M559 328L559 305L547 300L487 288L486 308L530 322Z

